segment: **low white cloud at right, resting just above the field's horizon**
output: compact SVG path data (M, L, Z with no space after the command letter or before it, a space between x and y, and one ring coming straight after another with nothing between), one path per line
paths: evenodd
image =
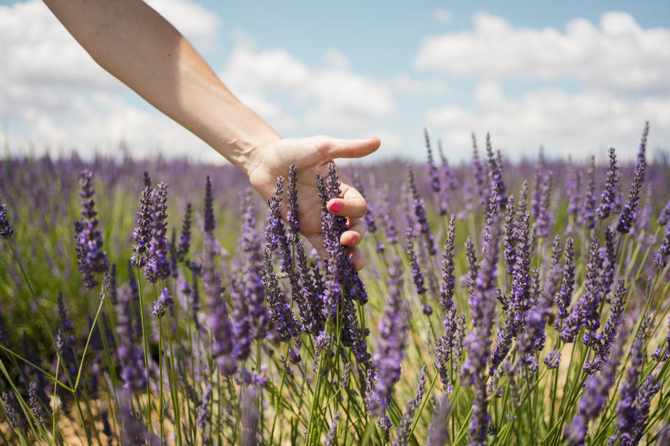
M584 157L613 146L623 160L636 154L644 121L650 121L648 146L670 140L670 98L625 100L605 90L566 93L559 89L528 92L507 98L500 86L483 82L475 91L477 107L457 105L426 113L429 129L440 134L445 148L457 148L455 159L468 157L470 132L491 132L495 146L508 154Z

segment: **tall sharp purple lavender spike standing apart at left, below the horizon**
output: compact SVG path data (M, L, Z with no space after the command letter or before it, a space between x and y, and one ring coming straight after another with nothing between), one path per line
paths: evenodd
M95 209L96 202L93 200L95 193L93 188L93 174L90 171L82 171L79 185L82 197L82 230L77 236L77 245L81 249L84 263L89 273L103 273L110 267L110 261L107 259L107 253L103 248L103 234L98 229L98 211ZM86 275L86 273L84 273ZM84 283L84 286L87 284Z

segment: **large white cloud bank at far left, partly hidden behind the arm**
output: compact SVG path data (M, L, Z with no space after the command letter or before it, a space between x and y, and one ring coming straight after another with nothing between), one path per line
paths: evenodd
M195 45L214 42L218 19L207 10L184 0L150 3ZM41 1L0 6L0 48L0 119L13 151L74 146L83 156L93 148L115 153L121 139L137 155L211 151L169 118L128 102L133 93L98 66Z

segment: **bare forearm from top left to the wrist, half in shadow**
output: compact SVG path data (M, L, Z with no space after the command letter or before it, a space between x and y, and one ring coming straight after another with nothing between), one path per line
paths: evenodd
M45 0L105 70L246 174L278 134L243 105L177 29L140 0Z

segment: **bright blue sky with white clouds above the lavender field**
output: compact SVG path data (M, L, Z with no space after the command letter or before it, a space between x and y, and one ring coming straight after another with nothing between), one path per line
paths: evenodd
M511 160L670 148L668 1L147 1L284 137L382 140L453 162L472 132ZM0 1L0 137L12 155L222 158L96 65L37 0ZM124 144L121 144L123 142Z

